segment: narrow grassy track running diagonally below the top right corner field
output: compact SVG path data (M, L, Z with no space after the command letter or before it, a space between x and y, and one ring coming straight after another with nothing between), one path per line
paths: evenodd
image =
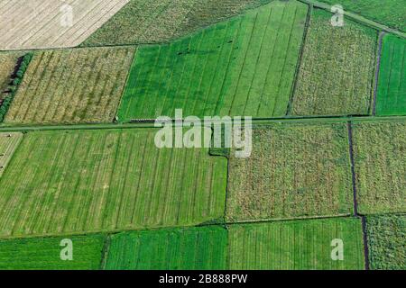
M306 3L306 4L313 4L315 7L327 10L328 12L331 13L332 5L330 5L330 4L321 3L321 2L318 2L317 0L297 0L297 1L300 1L300 2ZM357 23L362 23L362 24L364 24L366 26L374 28L375 30L385 31L385 32L388 32L388 33L398 35L401 38L406 38L406 33L405 32L394 29L394 28L391 28L389 26L386 26L383 23L379 23L379 22L376 22L374 20L368 19L368 18L366 18L366 17L364 17L364 16L362 16L360 14L355 14L353 12L345 10L344 15L346 15L348 18L350 18L351 20L353 20L353 21L355 21Z

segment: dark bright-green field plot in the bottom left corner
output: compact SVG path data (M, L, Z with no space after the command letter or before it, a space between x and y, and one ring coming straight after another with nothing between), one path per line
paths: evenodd
M63 238L23 238L0 240L2 270L96 270L100 267L105 237L67 237L72 242L71 261L61 260L60 252L67 247ZM60 246L63 244L63 246Z

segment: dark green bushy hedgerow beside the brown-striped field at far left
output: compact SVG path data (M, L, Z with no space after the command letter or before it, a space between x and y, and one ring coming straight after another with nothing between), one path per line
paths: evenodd
M17 72L15 72L15 74L11 78L10 85L8 87L9 94L5 97L3 103L0 106L0 122L3 122L5 119L5 114L8 112L8 108L10 107L11 103L13 102L14 95L17 92L18 86L23 81L23 76L25 74L25 71L28 68L28 65L30 64L30 62L32 60L32 57L33 57L33 54L31 52L25 54L18 67Z

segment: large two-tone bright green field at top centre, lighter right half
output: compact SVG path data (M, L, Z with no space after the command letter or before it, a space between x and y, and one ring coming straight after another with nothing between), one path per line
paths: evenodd
M139 48L119 121L173 116L177 108L185 116L284 116L307 10L274 1L171 44Z

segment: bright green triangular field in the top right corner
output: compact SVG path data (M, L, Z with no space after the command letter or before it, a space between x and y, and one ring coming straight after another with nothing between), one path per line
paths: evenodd
M377 23L383 23L406 31L406 5L404 0L318 0L328 4L341 4L344 10L363 15Z

